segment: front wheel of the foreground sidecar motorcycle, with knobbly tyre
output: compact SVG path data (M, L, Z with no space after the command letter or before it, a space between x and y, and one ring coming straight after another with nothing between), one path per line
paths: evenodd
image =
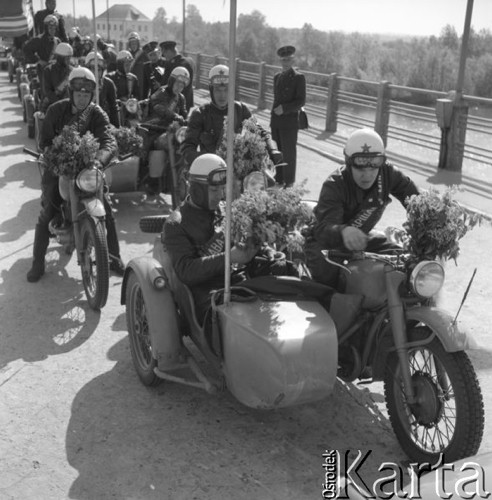
M428 337L425 327L409 331L411 341ZM464 352L447 352L434 338L409 351L416 404L408 404L396 354L384 377L386 405L405 453L418 463L434 464L474 455L482 441L484 408L480 386Z

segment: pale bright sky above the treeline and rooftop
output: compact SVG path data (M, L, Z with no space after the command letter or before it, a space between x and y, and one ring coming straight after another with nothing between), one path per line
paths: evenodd
M96 16L107 6L132 4L152 19L164 7L169 19L182 19L183 1L198 8L207 22L229 21L230 0L99 0ZM44 0L33 0L34 10ZM359 31L401 35L438 36L446 24L463 31L467 0L236 0L237 15L260 11L273 27L302 28L305 23L323 31ZM57 0L62 14L92 17L92 0ZM492 31L492 0L474 0L472 26Z

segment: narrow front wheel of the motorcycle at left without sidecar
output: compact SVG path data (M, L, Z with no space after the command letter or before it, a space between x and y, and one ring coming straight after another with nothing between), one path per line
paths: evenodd
M106 305L109 289L109 254L104 224L102 221L96 223L92 217L84 218L80 237L82 283L89 306L98 310Z

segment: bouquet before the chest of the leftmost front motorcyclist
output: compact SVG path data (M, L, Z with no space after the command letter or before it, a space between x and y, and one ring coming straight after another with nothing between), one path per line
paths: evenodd
M81 137L74 128L65 125L44 155L46 168L55 175L73 179L94 162L98 150L99 141L90 132Z

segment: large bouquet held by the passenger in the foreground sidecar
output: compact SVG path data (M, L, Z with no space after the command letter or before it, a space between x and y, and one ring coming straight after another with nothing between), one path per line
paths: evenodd
M311 210L301 203L303 186L244 192L232 203L231 239L237 246L252 243L277 250L300 252L301 229L310 222Z

